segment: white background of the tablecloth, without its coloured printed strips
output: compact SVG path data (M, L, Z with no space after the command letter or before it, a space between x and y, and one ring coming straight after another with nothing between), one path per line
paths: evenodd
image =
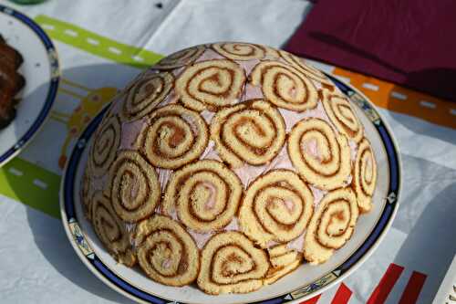
M302 0L163 0L158 8L159 2L48 0L42 5L18 6L0 0L31 17L51 16L159 54L220 40L281 47L311 9ZM56 45L63 77L92 88L121 88L140 71L116 68L105 58L63 43ZM71 107L75 106L57 100L57 110ZM430 303L456 252L456 130L379 111L399 142L402 196L398 216L383 243L345 281L353 291L349 303L365 303L390 263L404 271L387 302L397 303L411 273L420 271L427 278L419 302ZM20 157L61 173L57 165L61 141L56 138L62 135L58 128L45 131ZM56 152L44 155L45 148ZM319 303L329 303L336 289L327 291ZM58 219L0 195L0 303L131 301L105 286L78 260Z

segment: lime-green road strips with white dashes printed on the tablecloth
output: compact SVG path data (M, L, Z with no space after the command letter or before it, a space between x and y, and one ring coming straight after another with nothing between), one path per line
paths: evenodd
M119 43L49 16L36 16L35 21L52 39L119 64L143 69L149 68L162 58L161 55L149 50ZM0 194L27 204L47 215L59 217L60 180L59 174L53 173L33 161L16 157L0 168Z

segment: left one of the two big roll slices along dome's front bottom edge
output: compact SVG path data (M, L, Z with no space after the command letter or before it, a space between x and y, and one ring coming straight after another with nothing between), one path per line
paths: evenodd
M153 215L141 221L136 231L138 261L150 278L170 286L184 286L196 279L198 247L179 223Z

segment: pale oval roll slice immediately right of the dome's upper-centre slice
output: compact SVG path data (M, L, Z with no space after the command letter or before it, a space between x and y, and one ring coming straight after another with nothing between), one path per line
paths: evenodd
M347 137L326 121L312 118L296 123L288 137L288 154L298 173L318 188L342 187L350 175Z

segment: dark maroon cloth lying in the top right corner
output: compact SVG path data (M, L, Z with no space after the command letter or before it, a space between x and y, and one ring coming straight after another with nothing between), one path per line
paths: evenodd
M456 100L455 0L319 0L285 49Z

